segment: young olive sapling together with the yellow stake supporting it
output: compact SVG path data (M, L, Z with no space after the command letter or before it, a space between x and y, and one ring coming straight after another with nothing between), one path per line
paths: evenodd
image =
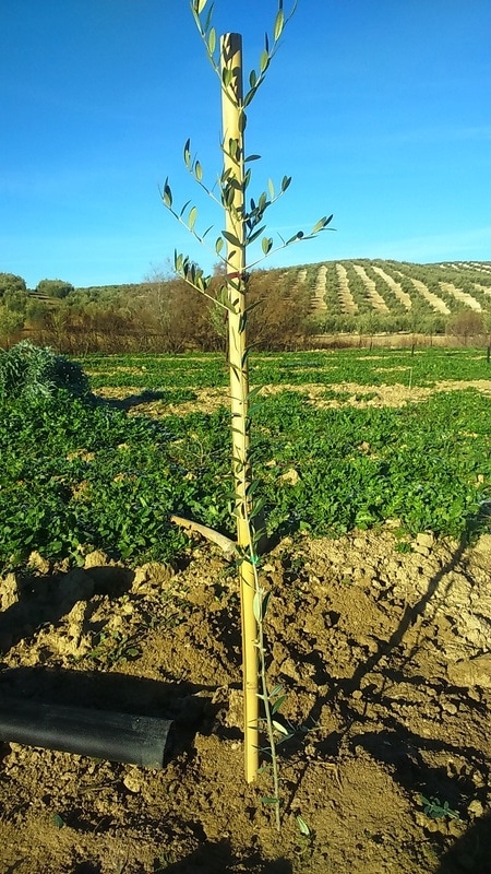
M297 5L297 0L294 0L294 5L286 15L283 0L276 0L276 2L277 11L273 35L270 38L266 34L264 50L259 59L259 69L253 69L249 73L246 91L243 90L241 36L227 33L218 40L213 26L213 3L208 4L208 0L192 0L191 2L194 22L220 83L223 169L218 177L218 194L215 194L212 188L205 184L203 168L197 158L192 156L189 140L184 145L183 157L185 167L197 185L208 198L223 208L225 213L225 227L212 244L212 250L224 268L223 286L216 294L212 284L213 276L206 276L189 257L178 252L175 253L175 268L177 273L201 295L213 299L214 305L221 310L228 322L232 513L237 522L237 567L242 626L244 769L248 782L254 780L259 770L259 729L261 720L265 720L275 780L275 796L268 801L276 804L277 822L279 822L275 758L275 737L277 735L275 732L280 727L275 723L274 714L279 707L280 696L278 697L277 689L268 693L264 659L263 621L268 593L261 586L258 575L260 562L258 543L261 532L255 530L255 520L262 509L262 503L254 493L255 482L251 466L251 416L254 408L252 401L256 398L258 389L250 390L249 387L248 317L252 305L248 302L248 281L251 269L263 258L300 240L311 239L327 227L332 216L321 218L308 234L298 231L289 239L279 237L279 243L275 246L273 238L265 233L264 215L270 206L285 193L291 178L284 176L277 192L274 184L270 180L267 191L263 191L259 198L248 198L251 182L249 164L260 156L255 154L248 156L246 153L247 110L264 82L285 25L291 19ZM177 209L168 179L164 184L161 197L169 212L190 231L195 239L207 246L213 226L203 233L197 231L196 206L190 205L188 201L181 209ZM255 261L248 261L248 248L256 241L261 246L262 253ZM260 701L264 709L264 717L261 718Z

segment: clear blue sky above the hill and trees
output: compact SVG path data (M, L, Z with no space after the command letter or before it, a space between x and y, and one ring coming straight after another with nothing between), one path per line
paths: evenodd
M288 0L285 0L288 9ZM277 0L215 0L258 66ZM167 213L182 163L220 169L220 95L188 0L4 0L0 271L76 286L140 282L173 249L216 260ZM272 235L334 213L335 233L265 265L342 258L491 260L490 0L299 0L251 104L251 193L292 176Z

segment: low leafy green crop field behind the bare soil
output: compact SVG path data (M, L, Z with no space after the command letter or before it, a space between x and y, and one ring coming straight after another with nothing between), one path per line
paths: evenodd
M94 547L130 563L176 560L187 539L172 512L230 533L224 356L80 362L93 391L112 389L119 401L61 390L49 401L0 402L0 567L20 566L33 551L75 563ZM268 534L336 535L391 519L402 534L458 538L486 525L490 375L486 354L467 349L253 356L252 383L276 387L264 392L253 425ZM474 385L417 397L442 380ZM383 386L409 394L398 406L360 406L354 385L366 400ZM192 409L219 387L224 405ZM128 395L134 403L120 409ZM158 417L149 415L156 400Z

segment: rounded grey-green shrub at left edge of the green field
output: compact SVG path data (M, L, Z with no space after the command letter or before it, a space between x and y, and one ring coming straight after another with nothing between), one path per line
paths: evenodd
M80 364L49 347L35 346L29 340L0 352L0 399L36 401L49 398L57 389L88 394L88 378Z

